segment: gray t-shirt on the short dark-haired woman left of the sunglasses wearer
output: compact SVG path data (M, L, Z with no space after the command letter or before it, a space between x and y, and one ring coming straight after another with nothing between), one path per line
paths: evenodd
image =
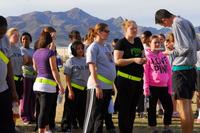
M89 77L89 69L86 64L86 58L69 58L64 65L64 74L67 74L70 77L72 83L86 87Z

